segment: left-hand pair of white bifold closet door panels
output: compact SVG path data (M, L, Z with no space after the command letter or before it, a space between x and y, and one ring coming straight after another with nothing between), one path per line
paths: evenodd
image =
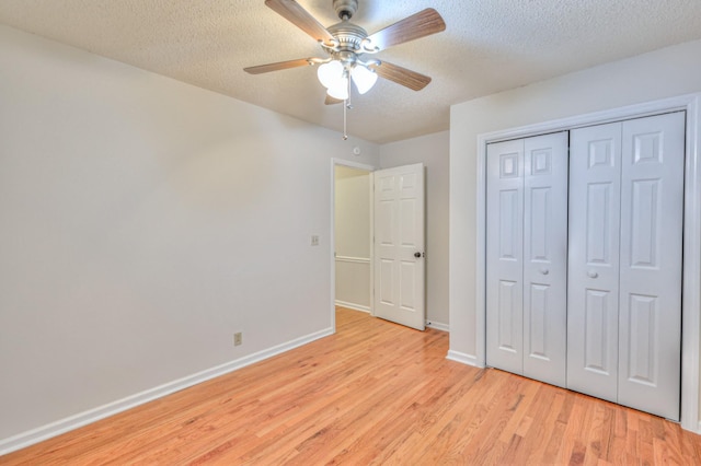
M489 365L565 385L567 132L487 147Z

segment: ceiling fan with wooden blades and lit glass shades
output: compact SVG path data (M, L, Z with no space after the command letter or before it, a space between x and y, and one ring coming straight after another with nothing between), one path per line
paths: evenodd
M364 56L445 31L446 23L432 8L368 35L363 27L350 22L358 9L358 0L333 0L333 8L341 22L327 28L294 0L265 0L265 4L314 38L329 56L244 68L248 73L260 74L317 65L319 81L326 88L326 104L347 101L350 96L350 82L360 94L368 92L378 77L414 91L421 91L430 82L427 75L376 58L365 59Z

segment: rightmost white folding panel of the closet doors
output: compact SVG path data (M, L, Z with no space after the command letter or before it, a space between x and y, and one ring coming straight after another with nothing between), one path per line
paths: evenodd
M623 123L619 398L679 419L685 114Z

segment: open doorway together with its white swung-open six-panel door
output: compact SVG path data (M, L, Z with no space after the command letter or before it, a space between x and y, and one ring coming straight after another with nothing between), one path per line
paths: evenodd
M425 328L424 177L421 163L374 171L332 160L334 329L336 305Z

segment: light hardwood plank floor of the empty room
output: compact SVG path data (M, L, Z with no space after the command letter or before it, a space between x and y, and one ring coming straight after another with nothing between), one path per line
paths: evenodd
M701 464L676 423L446 360L448 334L337 334L0 457L44 464Z

